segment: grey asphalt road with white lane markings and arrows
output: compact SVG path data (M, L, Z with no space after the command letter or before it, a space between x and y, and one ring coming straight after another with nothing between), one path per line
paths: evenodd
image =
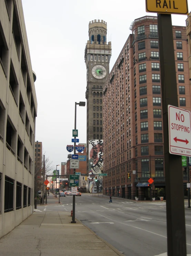
M57 210L72 210L72 196L60 200L63 205L57 206ZM165 202L141 203L118 198L112 198L112 202L109 203L109 198L88 194L76 196L76 218L126 256L154 256L167 252ZM46 210L51 207L55 206L47 206ZM185 208L185 218L187 254L191 254L190 209Z

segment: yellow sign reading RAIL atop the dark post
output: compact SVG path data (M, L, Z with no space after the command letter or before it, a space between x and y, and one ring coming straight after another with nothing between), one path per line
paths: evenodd
M145 0L147 12L188 15L187 0Z

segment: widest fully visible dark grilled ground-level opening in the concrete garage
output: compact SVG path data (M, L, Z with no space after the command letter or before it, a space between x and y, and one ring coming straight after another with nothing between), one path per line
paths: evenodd
M14 180L5 177L4 186L4 212L13 211Z

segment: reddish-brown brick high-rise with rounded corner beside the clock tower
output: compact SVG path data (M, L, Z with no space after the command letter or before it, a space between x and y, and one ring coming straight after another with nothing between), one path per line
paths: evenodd
M105 193L165 197L157 17L135 19L103 88ZM191 110L186 28L173 26L179 107ZM133 174L135 173L135 174ZM186 193L187 174L184 173Z

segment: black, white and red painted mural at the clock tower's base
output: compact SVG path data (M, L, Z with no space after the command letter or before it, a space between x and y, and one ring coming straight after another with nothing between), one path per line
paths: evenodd
M103 140L89 140L89 192L98 193L102 191L103 177L98 176L103 170ZM95 181L96 175L98 176Z

